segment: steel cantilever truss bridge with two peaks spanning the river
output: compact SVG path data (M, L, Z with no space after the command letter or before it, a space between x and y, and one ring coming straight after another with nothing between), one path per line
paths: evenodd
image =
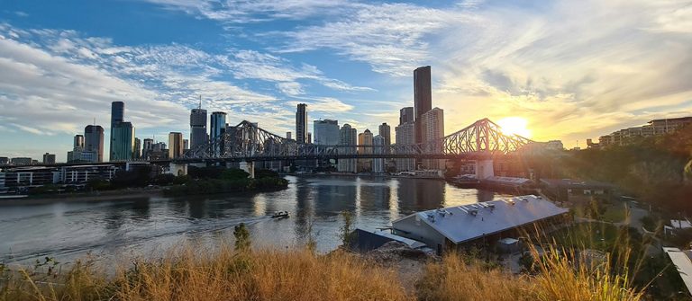
M513 155L535 142L506 135L493 121L478 120L446 137L421 144L390 146L321 146L300 144L244 120L223 136L188 150L174 163L261 162L303 159L420 158L484 160Z

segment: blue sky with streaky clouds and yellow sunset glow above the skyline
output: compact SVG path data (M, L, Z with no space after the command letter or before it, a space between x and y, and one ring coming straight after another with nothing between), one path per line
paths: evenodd
M168 142L200 95L281 136L300 102L394 131L417 66L446 135L514 117L583 147L692 115L692 1L0 0L0 156L64 161L94 120L107 153L114 101Z

